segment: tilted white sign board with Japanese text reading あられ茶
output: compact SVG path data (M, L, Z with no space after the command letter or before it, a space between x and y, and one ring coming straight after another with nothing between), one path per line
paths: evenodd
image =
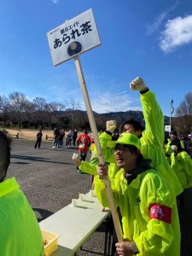
M92 9L47 33L54 66L101 44Z

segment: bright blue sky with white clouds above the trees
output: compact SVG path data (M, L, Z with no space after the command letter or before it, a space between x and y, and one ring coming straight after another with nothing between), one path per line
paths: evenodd
M143 77L166 115L192 91L190 0L0 0L0 94L84 102L73 59L54 67L46 33L92 9L102 45L80 55L97 113L141 110Z

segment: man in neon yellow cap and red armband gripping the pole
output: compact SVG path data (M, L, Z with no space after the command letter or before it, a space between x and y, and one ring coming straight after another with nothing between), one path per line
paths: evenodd
M131 133L122 133L109 142L120 170L111 187L116 206L120 208L124 241L117 242L118 255L180 255L180 227L174 194L159 172L151 168L151 160L143 159L141 142ZM108 207L103 177L108 166L97 166L96 185L99 199ZM100 192L99 192L100 191Z

